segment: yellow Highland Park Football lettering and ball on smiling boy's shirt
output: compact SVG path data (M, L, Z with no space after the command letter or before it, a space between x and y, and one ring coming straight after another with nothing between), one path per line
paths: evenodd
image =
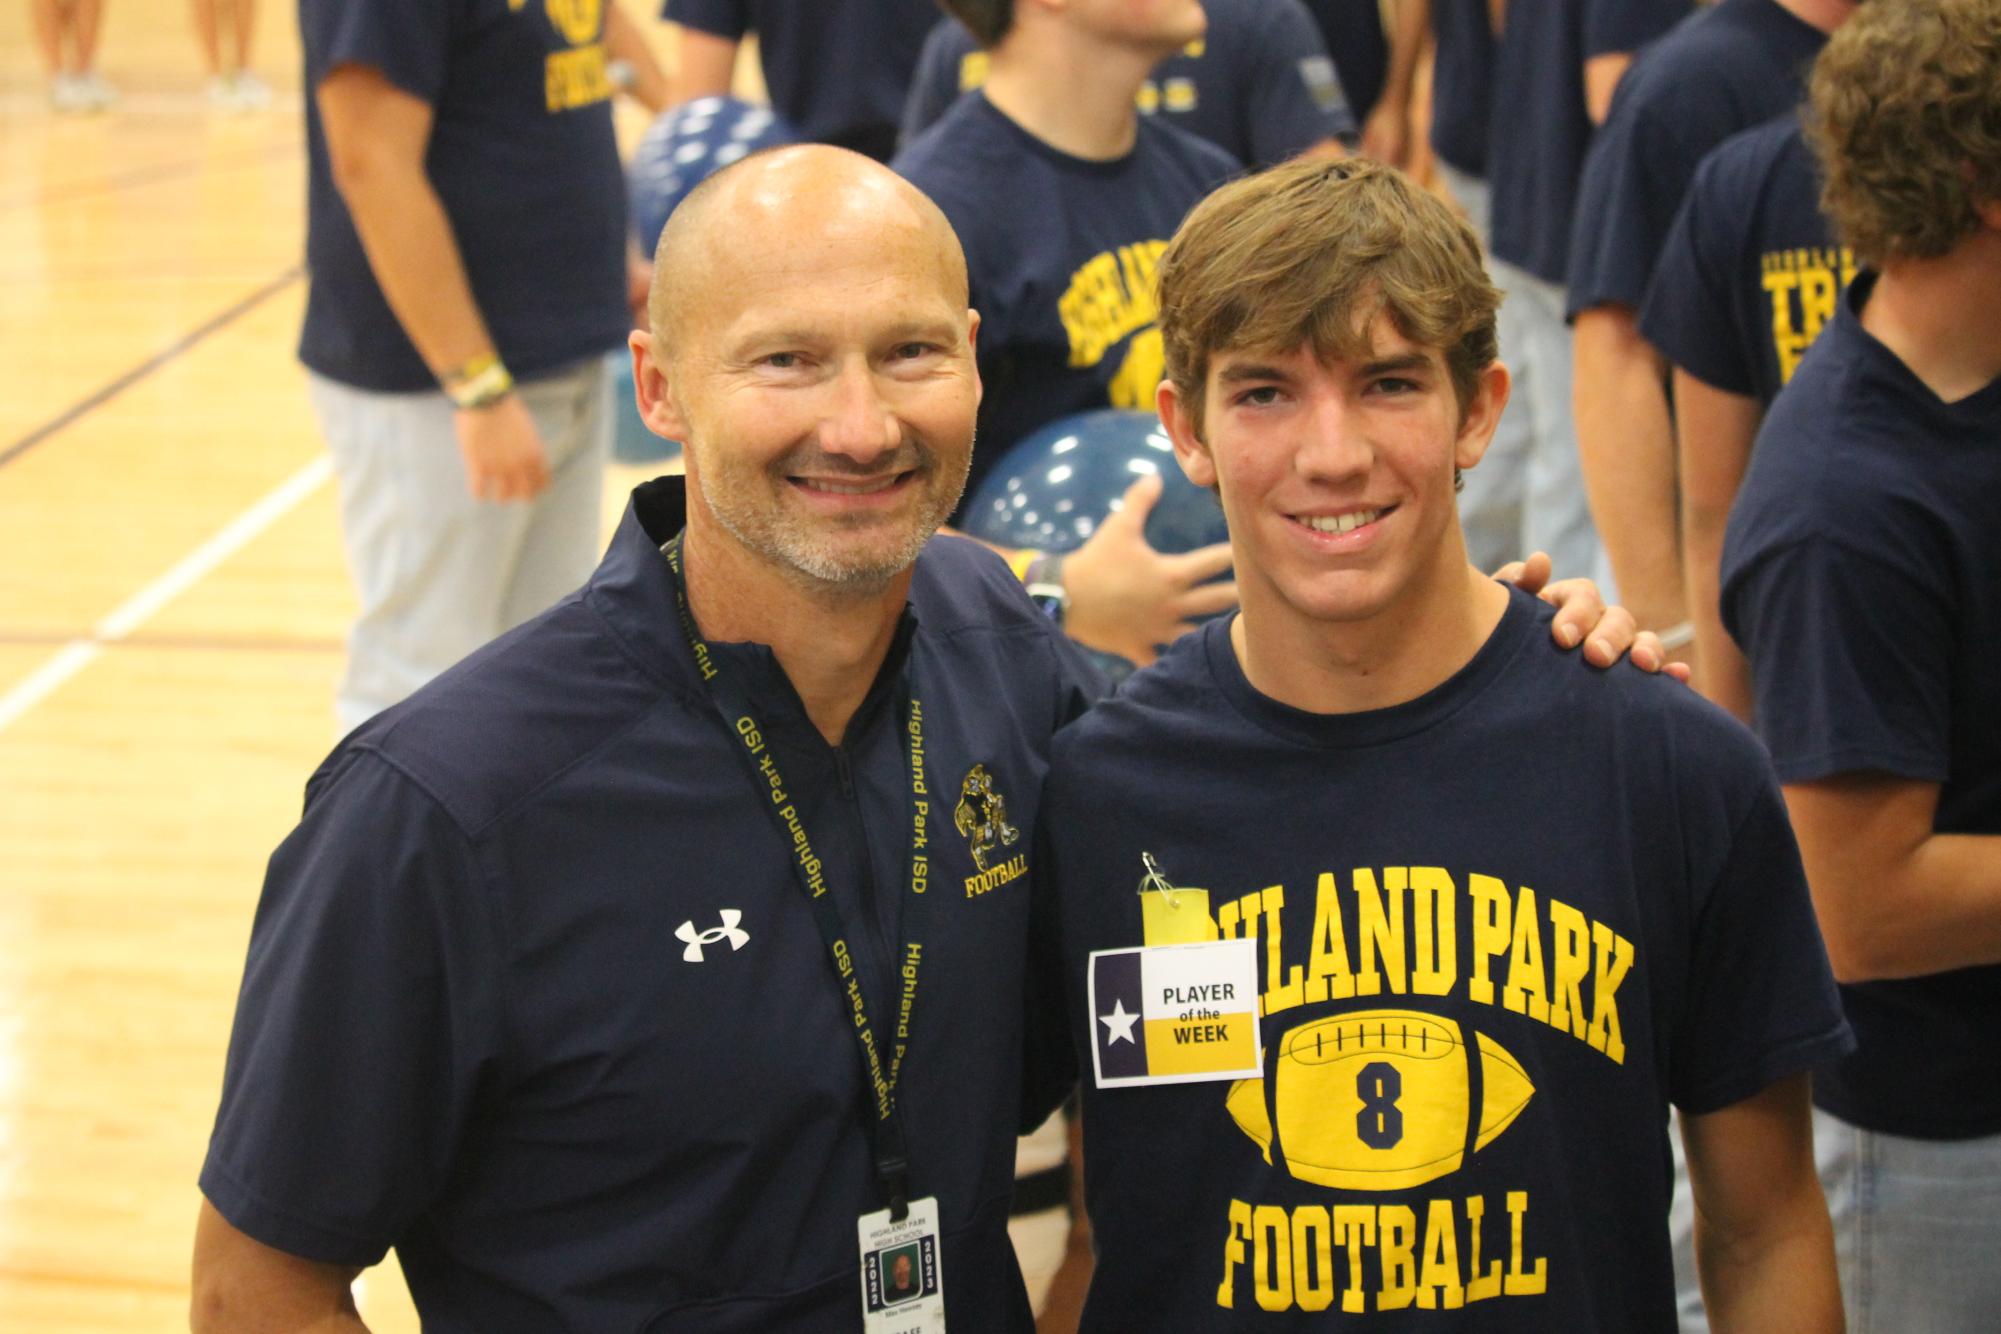
M1417 1006L1447 996L1493 1006L1623 1066L1619 988L1635 964L1633 942L1529 886L1439 866L1321 872L1305 940L1285 936L1283 884L1235 898L1177 892L1209 918L1195 934L1263 942L1259 1014L1363 1006L1293 1028L1267 1024L1265 1042L1277 1046L1271 1086L1237 1080L1225 1094L1231 1126L1267 1162L1339 1194L1325 1204L1233 1198L1217 1220L1217 1306L1457 1310L1547 1292L1529 1190L1391 1194L1467 1168L1539 1096L1529 1068L1493 1036ZM1143 922L1147 944L1165 944L1165 914Z

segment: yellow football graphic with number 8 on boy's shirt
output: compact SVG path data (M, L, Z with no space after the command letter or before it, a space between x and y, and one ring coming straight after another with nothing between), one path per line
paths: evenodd
M1473 1034L1487 1148L1535 1096L1521 1062ZM1467 1154L1473 1080L1459 1024L1417 1010L1365 1010L1301 1024L1279 1050L1273 1100L1285 1166L1337 1190L1405 1190L1457 1172ZM1237 1080L1225 1106L1271 1162L1265 1080Z

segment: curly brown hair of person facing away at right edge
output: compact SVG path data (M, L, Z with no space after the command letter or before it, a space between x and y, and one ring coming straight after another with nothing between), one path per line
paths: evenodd
M2001 198L2001 0L1869 0L1809 98L1821 208L1857 258L1937 258Z

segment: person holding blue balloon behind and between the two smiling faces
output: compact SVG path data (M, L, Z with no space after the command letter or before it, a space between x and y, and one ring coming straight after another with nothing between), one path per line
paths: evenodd
M1221 148L1157 116L1139 86L1205 32L1197 0L1109 22L1093 6L952 0L990 56L964 94L890 164L936 200L966 248L980 312L980 448L972 484L1011 444L1089 408L1149 408L1161 382L1153 268L1183 216L1239 170ZM1125 510L1145 518L1159 478ZM1145 544L1137 524L1101 526L1069 552L1065 630L1091 648L1151 662L1193 616L1223 610L1227 548L1197 560Z

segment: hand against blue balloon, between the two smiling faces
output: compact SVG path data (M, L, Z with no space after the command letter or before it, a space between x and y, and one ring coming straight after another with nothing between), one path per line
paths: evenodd
M1237 584L1207 584L1231 568L1229 542L1163 556L1147 546L1147 514L1161 498L1161 478L1141 478L1091 540L1063 562L1071 606L1063 628L1087 648L1139 666L1155 648L1193 630L1191 618L1237 606Z

